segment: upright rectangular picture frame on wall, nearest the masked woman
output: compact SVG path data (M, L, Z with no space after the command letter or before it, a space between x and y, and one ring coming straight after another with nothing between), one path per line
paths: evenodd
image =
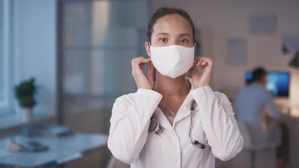
M229 65L246 65L246 41L244 38L230 38L228 43L228 57Z

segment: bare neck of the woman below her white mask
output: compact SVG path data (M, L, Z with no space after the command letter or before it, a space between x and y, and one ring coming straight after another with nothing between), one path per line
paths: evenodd
M186 81L184 74L176 78L171 78L163 76L158 71L156 72L154 91L160 93L163 97L180 97L185 96L190 92L191 87Z

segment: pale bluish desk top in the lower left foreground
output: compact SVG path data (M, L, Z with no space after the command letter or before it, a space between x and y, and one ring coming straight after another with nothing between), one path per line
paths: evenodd
M105 146L108 135L73 134L66 137L10 137L15 142L38 141L49 147L43 152L7 152L4 151L7 138L0 139L0 165L38 167L49 164L65 163L80 158L84 152Z

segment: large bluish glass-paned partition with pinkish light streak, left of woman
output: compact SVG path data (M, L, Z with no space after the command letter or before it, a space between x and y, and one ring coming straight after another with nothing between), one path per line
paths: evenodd
M63 112L109 108L136 92L131 60L147 57L148 1L60 2Z

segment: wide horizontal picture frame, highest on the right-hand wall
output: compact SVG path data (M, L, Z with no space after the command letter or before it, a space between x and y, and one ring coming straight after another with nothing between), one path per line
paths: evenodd
M275 15L251 15L249 32L252 34L274 34L277 19Z

